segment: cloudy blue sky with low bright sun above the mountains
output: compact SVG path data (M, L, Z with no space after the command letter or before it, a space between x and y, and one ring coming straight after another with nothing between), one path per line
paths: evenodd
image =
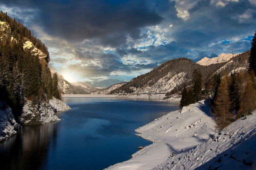
M250 49L256 0L1 0L70 82L104 88L186 57Z

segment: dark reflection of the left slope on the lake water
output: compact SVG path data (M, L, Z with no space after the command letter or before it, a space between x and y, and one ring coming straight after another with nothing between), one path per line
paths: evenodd
M47 161L49 145L56 145L58 122L27 126L0 144L1 169L39 169ZM52 141L51 141L52 140Z

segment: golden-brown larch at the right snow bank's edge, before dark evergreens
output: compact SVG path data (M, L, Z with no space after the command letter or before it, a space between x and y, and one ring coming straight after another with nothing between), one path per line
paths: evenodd
M221 80L218 95L214 103L213 112L216 114L217 128L223 129L233 121L233 114L230 112L231 101L227 77Z

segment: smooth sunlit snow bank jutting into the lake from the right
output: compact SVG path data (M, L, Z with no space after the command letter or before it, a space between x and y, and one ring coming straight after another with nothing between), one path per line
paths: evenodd
M153 144L132 155L132 159L107 169L153 169L178 158L177 155L215 134L215 123L204 101L173 111L135 131ZM172 158L174 153L174 158Z

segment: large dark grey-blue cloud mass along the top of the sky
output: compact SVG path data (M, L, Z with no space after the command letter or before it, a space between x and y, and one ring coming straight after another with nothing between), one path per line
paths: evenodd
M37 9L35 22L52 36L78 42L103 38L102 42L111 46L125 43L127 35L139 38L138 28L162 20L154 10L147 8L147 0L3 0L2 3Z

